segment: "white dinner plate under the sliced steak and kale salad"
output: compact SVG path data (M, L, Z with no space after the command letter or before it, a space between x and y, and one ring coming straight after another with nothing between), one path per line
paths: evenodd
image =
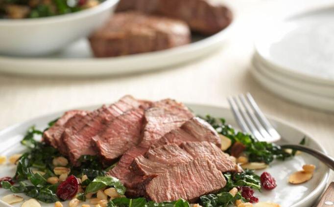
M233 115L228 108L221 108L215 106L188 104L188 106L196 113L200 115L211 114L215 117L223 117L228 123L236 126ZM97 108L86 107L86 109ZM27 127L35 124L37 128L43 129L47 126L48 121L59 117L63 112L53 113L39 118L32 119L22 124L16 124L0 132L0 154L9 156L14 153L22 152L23 147L19 144L22 139ZM284 137L283 142L298 144L300 140L306 136L307 145L312 148L319 149L325 152L324 148L319 145L309 135L302 132L300 129L290 126L282 121L270 119L271 123L275 126L278 132ZM316 166L313 178L301 185L290 185L287 183L288 176L297 170L302 169L304 164L313 164ZM315 158L308 154L302 153L293 159L281 162L275 161L271 167L265 169L271 173L278 184L278 186L272 191L263 191L262 193L257 192L260 201L271 201L281 204L281 207L310 207L313 202L320 196L321 192L328 182L329 168L324 164L320 163ZM7 165L0 169L0 177L12 176L15 172L15 166ZM262 173L258 171L257 173ZM10 192L0 188L0 198ZM24 196L24 195L23 195ZM24 198L27 198L24 196ZM0 201L0 206L8 206ZM21 204L14 205L19 207ZM67 205L65 205L67 206ZM10 206L8 206L10 207ZM53 204L43 204L43 207L53 207Z

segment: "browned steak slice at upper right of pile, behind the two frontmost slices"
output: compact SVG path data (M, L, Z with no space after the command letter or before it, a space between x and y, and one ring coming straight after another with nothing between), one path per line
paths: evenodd
M183 142L198 141L208 141L219 147L221 146L221 140L215 129L206 121L198 117L193 117L180 128L167 133L164 137L151 145L151 148L173 143L180 145Z

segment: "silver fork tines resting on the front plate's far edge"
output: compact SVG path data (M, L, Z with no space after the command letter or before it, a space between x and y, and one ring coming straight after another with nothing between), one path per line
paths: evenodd
M250 93L229 97L227 100L243 132L253 134L259 141L275 142L281 139Z

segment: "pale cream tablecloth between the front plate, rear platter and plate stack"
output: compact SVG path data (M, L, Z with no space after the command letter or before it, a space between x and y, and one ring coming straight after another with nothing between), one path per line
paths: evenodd
M334 156L334 113L283 100L259 85L249 72L252 39L264 21L321 5L334 5L334 1L229 1L235 13L235 25L228 40L219 50L196 62L102 79L0 75L0 129L62 109L110 103L124 94L151 100L170 97L188 103L228 106L227 96L249 91L266 114L303 129Z

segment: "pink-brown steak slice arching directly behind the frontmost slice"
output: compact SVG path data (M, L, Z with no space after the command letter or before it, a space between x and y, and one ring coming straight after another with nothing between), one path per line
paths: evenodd
M136 157L131 166L132 170L143 175L143 180L145 180L167 171L172 166L200 157L208 158L221 172L242 171L229 155L209 142L184 142L181 146L163 145L148 150L145 156Z

